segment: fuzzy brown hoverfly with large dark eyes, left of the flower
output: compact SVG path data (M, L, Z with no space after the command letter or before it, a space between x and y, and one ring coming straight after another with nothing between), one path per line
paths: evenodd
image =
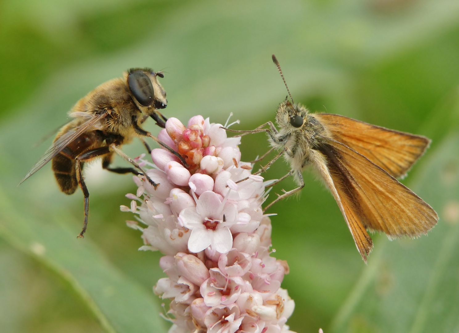
M94 158L102 158L102 168L119 174L130 172L144 175L156 189L159 184L124 154L121 146L134 137L148 136L178 155L140 127L148 117L165 127L167 118L158 109L167 107L166 91L158 82L158 77L163 78L163 73L154 72L150 68L132 68L124 73L123 78L107 81L80 99L69 113L73 120L59 130L52 146L19 183L51 161L51 168L62 192L73 194L80 186L84 194L84 224L78 237L84 237L89 214L89 192L82 174L84 164ZM150 151L146 142L142 141ZM115 153L134 167L112 168L110 164ZM185 163L181 156L178 157Z

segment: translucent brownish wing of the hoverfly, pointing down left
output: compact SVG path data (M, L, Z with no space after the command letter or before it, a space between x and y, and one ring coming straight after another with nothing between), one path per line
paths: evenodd
M83 134L85 131L89 130L92 126L97 124L98 121L105 118L106 115L106 112L95 115L83 124L81 124L80 126L76 127L75 129L65 132L61 137L59 137L59 139L53 142L52 146L45 152L45 154L39 159L39 161L35 163L32 169L30 169L30 171L27 173L27 175L25 175L24 178L22 178L19 185L22 184L22 182L24 182L28 177L30 177L39 169L41 169L51 159L53 159L53 157L55 157L59 152L61 152L62 149L67 147L67 145L70 142L78 138L78 136Z

